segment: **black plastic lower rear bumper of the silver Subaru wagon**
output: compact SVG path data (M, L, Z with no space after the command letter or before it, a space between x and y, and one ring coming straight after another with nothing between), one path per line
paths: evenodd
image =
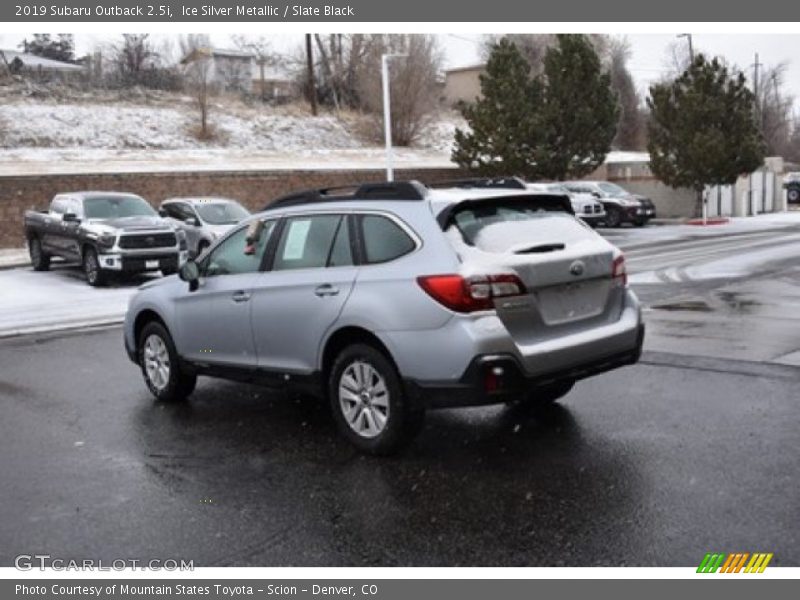
M638 362L644 343L644 324L636 330L636 343L630 349L588 360L568 368L534 376L526 375L513 355L478 356L457 382L406 379L413 401L426 408L455 408L499 404L520 398L536 386L556 381L578 381Z

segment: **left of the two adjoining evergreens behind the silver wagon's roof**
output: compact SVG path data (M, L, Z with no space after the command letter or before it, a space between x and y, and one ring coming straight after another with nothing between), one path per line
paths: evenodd
M535 177L532 148L542 105L542 86L506 39L494 45L480 77L482 97L462 104L470 131L456 129L453 162L484 176Z

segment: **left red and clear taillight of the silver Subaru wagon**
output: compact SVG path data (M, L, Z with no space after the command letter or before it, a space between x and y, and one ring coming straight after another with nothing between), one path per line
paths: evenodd
M417 277L417 283L431 298L456 312L491 310L495 298L527 293L519 277L511 274L466 278L461 275L427 275Z

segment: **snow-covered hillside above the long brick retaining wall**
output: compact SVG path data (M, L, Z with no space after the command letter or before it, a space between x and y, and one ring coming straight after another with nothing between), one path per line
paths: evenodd
M216 137L201 141L194 135L197 110L185 98L151 105L6 102L0 105L0 174L74 172L73 167L97 172L124 163L133 170L383 164L383 147L356 133L365 127L362 115L313 117L297 107L241 104L217 105L210 115ZM463 121L455 113L442 113L413 147L396 148L398 166L448 166L459 126Z

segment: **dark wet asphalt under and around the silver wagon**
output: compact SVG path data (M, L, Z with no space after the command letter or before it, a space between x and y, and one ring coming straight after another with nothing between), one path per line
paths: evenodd
M0 565L800 564L800 371L679 353L540 414L430 413L355 453L308 399L201 379L154 404L121 331L0 341Z

